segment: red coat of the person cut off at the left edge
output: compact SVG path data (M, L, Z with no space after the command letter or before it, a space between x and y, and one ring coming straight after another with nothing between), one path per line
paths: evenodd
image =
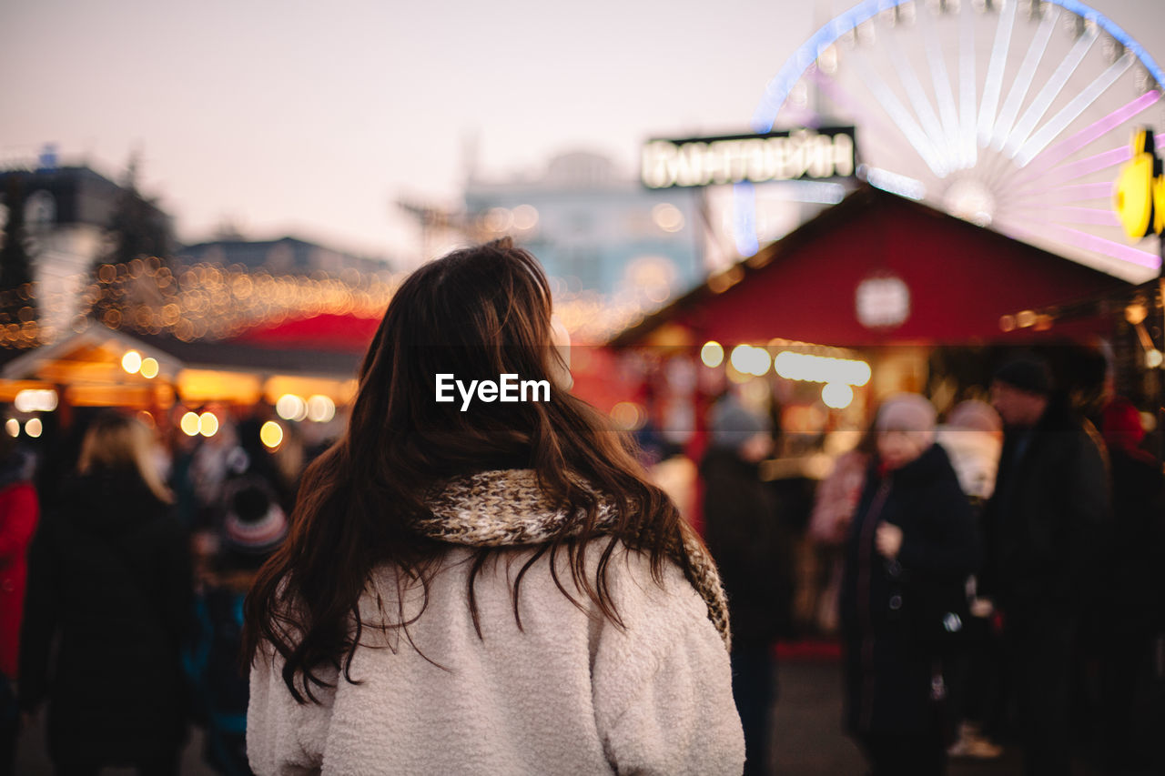
M28 545L37 516L36 489L30 482L19 477L0 480L0 675L12 679L16 678Z

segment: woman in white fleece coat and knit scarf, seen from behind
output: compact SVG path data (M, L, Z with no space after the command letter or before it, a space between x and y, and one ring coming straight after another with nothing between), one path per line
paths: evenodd
M401 285L247 599L256 773L741 771L715 569L555 329L508 240Z

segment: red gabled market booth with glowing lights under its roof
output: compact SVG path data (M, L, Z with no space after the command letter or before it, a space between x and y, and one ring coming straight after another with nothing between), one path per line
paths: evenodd
M864 186L609 345L654 360L643 416L693 460L708 403L735 382L783 431L768 477L817 479L839 452L822 438L852 440L882 396L923 391L944 410L986 382L1000 346L1110 337L1103 305L1071 320L1055 305L1130 288Z

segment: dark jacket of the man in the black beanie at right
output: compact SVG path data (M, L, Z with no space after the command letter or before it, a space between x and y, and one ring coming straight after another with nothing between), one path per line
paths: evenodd
M1101 449L1058 403L1032 429L1004 431L980 590L1007 615L1065 616L1097 600L1110 515Z

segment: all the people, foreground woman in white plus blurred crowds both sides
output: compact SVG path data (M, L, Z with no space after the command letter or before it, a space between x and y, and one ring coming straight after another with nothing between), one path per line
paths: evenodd
M569 393L566 345L503 240L401 287L318 454L277 459L248 418L160 456L108 411L47 479L0 435L0 773L45 706L59 774L175 774L191 721L227 775L767 773L793 746L772 419L708 414L701 538ZM552 400L461 412L440 373ZM846 731L876 775L1012 741L1067 774L1087 717L1102 762L1152 773L1165 475L1141 416L1117 397L1094 426L1031 355L989 400L940 424L885 397L817 489Z

